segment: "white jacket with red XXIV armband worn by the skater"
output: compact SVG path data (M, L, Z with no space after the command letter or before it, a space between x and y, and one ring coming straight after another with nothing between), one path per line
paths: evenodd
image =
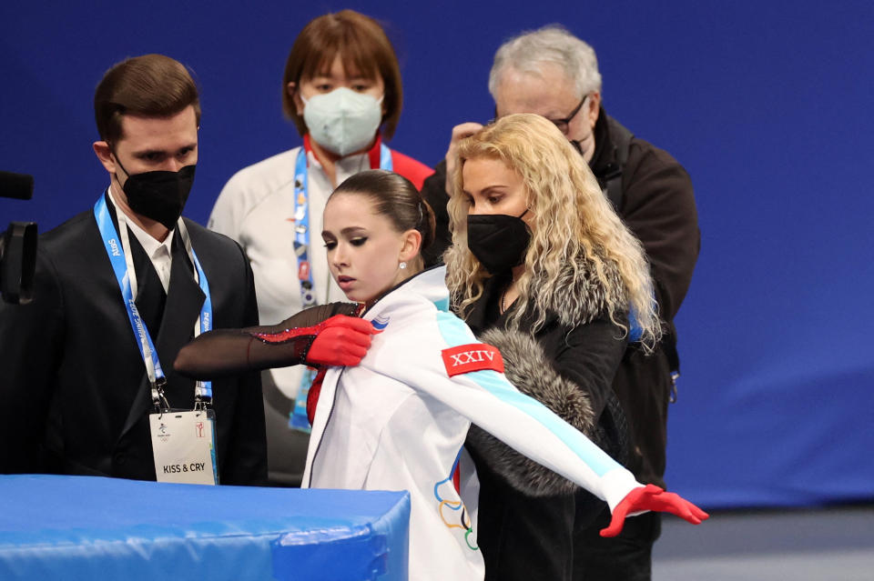
M416 275L364 315L384 330L361 366L325 376L303 486L410 491L410 578L478 580L484 573L474 531L478 481L462 454L471 422L611 510L642 485L502 373L449 375L452 366L485 360L488 352L448 312L444 278L444 267ZM444 359L444 350L468 345ZM461 495L452 485L457 463Z

